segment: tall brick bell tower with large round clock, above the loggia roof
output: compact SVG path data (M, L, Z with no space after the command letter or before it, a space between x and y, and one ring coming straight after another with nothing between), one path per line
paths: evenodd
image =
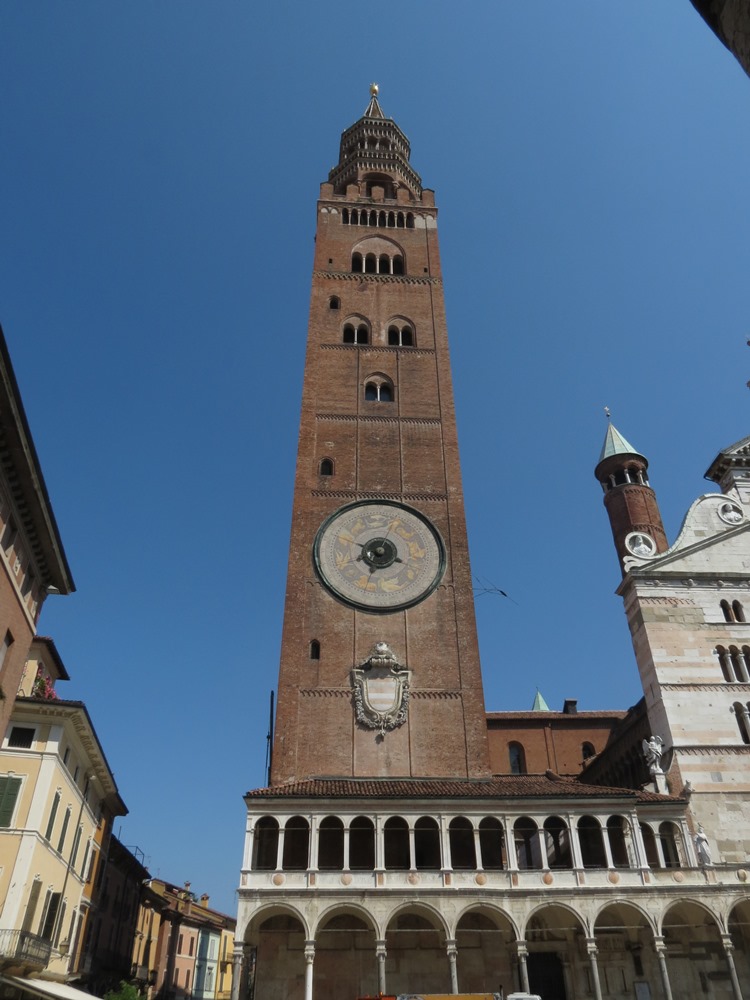
M318 201L272 785L490 774L437 209L370 93Z

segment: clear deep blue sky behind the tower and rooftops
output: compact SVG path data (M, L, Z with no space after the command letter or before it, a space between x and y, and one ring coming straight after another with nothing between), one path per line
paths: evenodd
M750 82L688 0L0 6L0 321L78 592L40 631L151 871L234 912L318 185L371 80L436 190L491 710L640 696L603 407L668 535L748 433Z

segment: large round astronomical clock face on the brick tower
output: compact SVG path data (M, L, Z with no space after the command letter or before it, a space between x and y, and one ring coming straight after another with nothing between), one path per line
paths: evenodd
M418 604L445 572L445 546L419 511L363 500L336 511L315 539L323 583L348 604L394 611Z

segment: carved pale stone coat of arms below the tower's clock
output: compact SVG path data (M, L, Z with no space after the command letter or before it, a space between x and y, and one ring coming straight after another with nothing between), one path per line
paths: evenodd
M377 729L381 738L386 730L403 725L410 683L411 670L399 663L387 642L376 642L367 659L352 670L357 722Z

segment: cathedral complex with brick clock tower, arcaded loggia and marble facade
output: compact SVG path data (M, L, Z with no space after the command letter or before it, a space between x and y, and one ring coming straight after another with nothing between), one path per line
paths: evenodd
M317 206L235 1000L750 998L746 452L721 453L721 492L670 547L646 459L608 429L596 473L644 699L488 715L437 208L372 89Z

